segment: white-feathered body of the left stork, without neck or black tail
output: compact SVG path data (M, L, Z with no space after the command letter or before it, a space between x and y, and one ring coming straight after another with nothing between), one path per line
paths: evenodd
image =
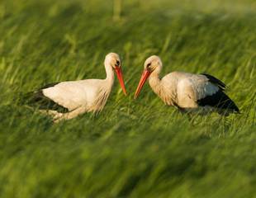
M45 97L69 110L68 113L48 110L55 120L69 120L84 112L102 111L113 82L114 78L60 82L55 87L42 89L42 92Z

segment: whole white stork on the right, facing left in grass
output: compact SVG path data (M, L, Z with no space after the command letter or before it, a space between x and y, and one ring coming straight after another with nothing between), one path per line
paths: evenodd
M144 68L135 98L149 78L150 87L168 106L177 106L181 111L199 114L212 111L220 115L239 113L235 102L224 92L225 83L209 74L173 72L159 79L163 64L156 55L146 59Z

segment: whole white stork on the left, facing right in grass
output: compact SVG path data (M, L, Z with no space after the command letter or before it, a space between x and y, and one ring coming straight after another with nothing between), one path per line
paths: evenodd
M119 55L107 54L104 64L107 78L51 83L29 93L26 104L37 106L41 112L52 115L55 122L89 111L102 111L114 83L114 71L126 95Z

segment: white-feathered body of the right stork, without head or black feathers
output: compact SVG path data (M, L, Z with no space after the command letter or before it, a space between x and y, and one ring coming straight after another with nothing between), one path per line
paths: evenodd
M161 80L157 75L150 75L149 85L168 106L178 106L185 111L200 113L213 111L214 108L199 106L197 101L220 90L204 75L183 72L168 73Z

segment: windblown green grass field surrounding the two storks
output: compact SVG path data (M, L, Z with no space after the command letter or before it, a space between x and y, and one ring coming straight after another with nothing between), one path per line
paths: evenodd
M0 197L256 197L256 2L254 0L3 0L0 2ZM114 8L113 8L114 7ZM17 104L49 82L118 82L100 115L53 125ZM241 115L187 117L147 84L145 59L164 73L211 73Z

